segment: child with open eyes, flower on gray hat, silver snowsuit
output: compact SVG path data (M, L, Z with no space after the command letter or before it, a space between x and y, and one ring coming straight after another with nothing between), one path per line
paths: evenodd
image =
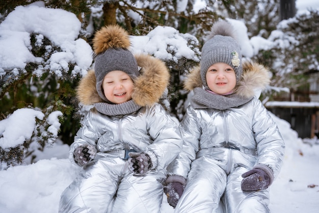
M212 26L200 66L184 86L194 91L180 123L182 152L168 167L164 189L175 212L269 212L269 186L278 176L284 142L254 97L269 71L243 62L229 22Z

